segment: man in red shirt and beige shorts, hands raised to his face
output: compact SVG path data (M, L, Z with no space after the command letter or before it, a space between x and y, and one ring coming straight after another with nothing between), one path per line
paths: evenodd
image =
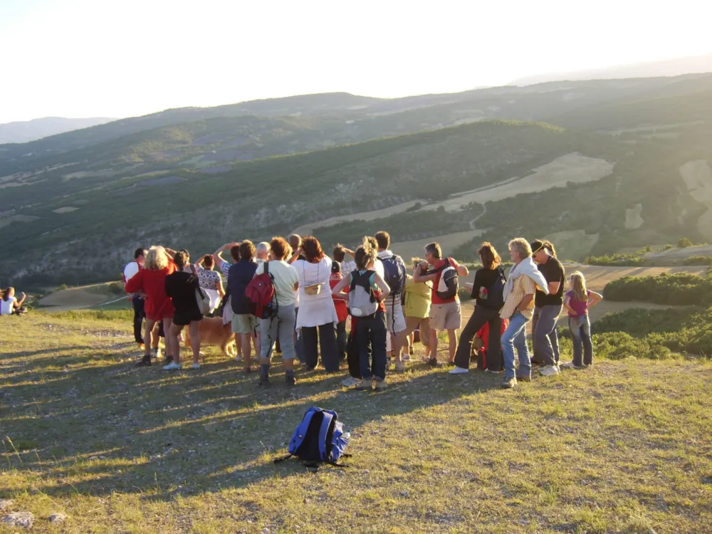
M424 268L428 266L431 269L423 274ZM456 332L460 328L461 320L460 298L457 292L454 296L446 298L439 295L444 292L444 284L441 284L442 274L449 268L453 268L459 276L467 276L469 273L466 266L460 265L453 258L443 258L440 245L435 242L425 246L425 262L420 264L420 268L413 271L413 280L417 283L433 283L430 307L430 359L428 360L428 365L432 367L438 365L438 330L447 330L448 361L451 364L454 363L457 349Z

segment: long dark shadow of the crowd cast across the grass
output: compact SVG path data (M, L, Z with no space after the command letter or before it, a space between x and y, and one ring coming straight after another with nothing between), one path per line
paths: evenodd
M296 460L279 465L272 460L286 454L287 441L310 406L338 412L355 431L357 443L370 422L444 405L498 387L501 381L481 372L454 377L414 365L407 372L391 373L384 392L345 389L340 383L345 370L338 375L298 372L297 386L288 388L282 382L281 361L276 363L271 389L256 385L256 373L245 375L226 361L179 373L115 363L93 373L119 379L93 386L92 370L78 370L72 379L75 388L84 384L84 391L56 407L51 424L44 418L6 420L8 435L43 434L44 450L26 454L16 467L51 471L51 481L37 488L50 496L107 496L118 491L170 501L178 492L218 491L302 474L304 467ZM54 461L47 460L50 450ZM93 456L107 458L90 460ZM357 465L358 457L347 464ZM63 481L72 476L83 480Z

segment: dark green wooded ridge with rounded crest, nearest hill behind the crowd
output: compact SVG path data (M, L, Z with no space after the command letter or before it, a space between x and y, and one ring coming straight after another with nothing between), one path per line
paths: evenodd
M607 138L548 125L478 122L242 162L208 175L182 169L132 179L76 179L73 189L67 182L9 188L37 194L35 204L22 210L37 219L11 224L7 245L15 254L1 258L0 267L36 283L82 285L115 278L127 251L142 244L205 253L335 214L443 199L526 174L570 152L614 157L617 149ZM46 200L38 203L40 198ZM78 209L56 213L63 206Z

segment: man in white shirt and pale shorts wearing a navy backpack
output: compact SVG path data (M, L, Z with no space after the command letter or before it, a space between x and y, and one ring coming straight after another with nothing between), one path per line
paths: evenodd
M391 293L384 301L386 305L386 328L391 336L392 354L395 357L395 369L405 370L405 364L401 359L402 347L406 344L405 339L405 317L401 305L401 294L405 286L406 270L405 264L400 256L389 250L391 236L386 231L379 231L375 235L378 248L378 258L376 267L380 266L384 274L382 277L391 287Z

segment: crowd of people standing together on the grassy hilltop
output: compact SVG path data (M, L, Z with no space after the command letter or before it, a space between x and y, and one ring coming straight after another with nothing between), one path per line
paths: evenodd
M223 258L226 251L229 260ZM545 377L562 367L592 365L588 309L602 296L587 290L580 272L570 276L565 293L565 269L550 241L513 239L509 255L513 266L506 276L496 249L489 243L479 248L481 268L473 283L465 284L475 306L458 338L459 278L469 271L444 256L437 243L425 246L424 258L412 258L411 273L390 250L385 231L365 236L355 250L337 245L331 257L318 239L298 235L256 246L248 240L225 244L196 263L185 250L139 248L124 271L135 341L144 352L137 365L150 366L161 357L159 337L164 337L163 369L182 369L180 341L186 330L192 368L199 369L205 316L220 318L213 320L231 330L236 360L246 373L258 369L261 387L271 386L277 347L288 386L296 384L295 360L305 370L321 364L328 372L337 372L346 360L345 386L382 390L389 366L404 371L416 342L424 345L426 365L440 365L439 333L447 338L444 364L452 367L452 375L469 372L475 358L479 368L503 374L506 388L530 381L533 365ZM271 302L256 312L251 295L258 286L270 290ZM5 310L6 299L14 297L6 291L3 298ZM562 310L573 340L573 359L564 365L557 338Z

